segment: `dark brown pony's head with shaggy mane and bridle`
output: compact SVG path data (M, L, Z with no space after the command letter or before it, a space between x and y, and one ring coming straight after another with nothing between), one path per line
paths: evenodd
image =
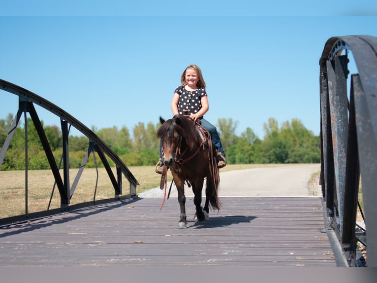
M166 166L173 164L177 148L188 148L188 151L191 151L200 144L200 135L189 118L175 115L165 121L160 117L160 122L162 125L157 130L157 138L162 141L163 162Z

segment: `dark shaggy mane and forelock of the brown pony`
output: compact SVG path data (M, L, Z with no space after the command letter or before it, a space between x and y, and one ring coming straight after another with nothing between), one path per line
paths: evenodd
M202 141L194 122L182 115L175 115L172 119L166 120L157 130L157 138L165 137L172 140L174 132L185 139L189 149L196 149Z

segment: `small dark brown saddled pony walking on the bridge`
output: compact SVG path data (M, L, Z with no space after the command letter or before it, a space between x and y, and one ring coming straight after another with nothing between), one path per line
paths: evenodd
M212 210L220 210L218 196L220 175L216 163L216 149L208 131L188 117L175 115L166 121L160 118L160 121L162 125L157 130L157 137L162 142L162 161L170 169L178 190L178 202L181 208L178 228L186 228L185 182L188 187L192 187L194 193L196 208L194 219L207 220L209 204ZM202 209L202 188L205 178L207 178L206 202Z

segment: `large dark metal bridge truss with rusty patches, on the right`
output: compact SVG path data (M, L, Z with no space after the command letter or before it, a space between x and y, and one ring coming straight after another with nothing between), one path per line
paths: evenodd
M349 51L358 73L350 76L348 97ZM377 267L377 37L331 37L319 65L320 181L327 221L349 266ZM358 208L365 228L356 223ZM358 242L367 247L366 262L358 257Z

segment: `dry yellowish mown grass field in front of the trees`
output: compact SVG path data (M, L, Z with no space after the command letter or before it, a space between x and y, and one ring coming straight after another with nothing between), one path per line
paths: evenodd
M295 164L292 164L295 165ZM227 165L220 172L242 170L258 167L287 166L286 164L244 164ZM128 168L140 183L136 188L137 193L159 186L160 176L155 173L154 166L135 166ZM115 168L113 169L115 172ZM78 169L70 170L70 184L78 172ZM114 197L114 189L104 168L98 168L98 184L96 169L86 168L80 178L77 188L70 201L71 205L108 199ZM25 171L0 171L0 218L25 214L26 203L26 177ZM129 184L123 176L123 194L128 194ZM51 170L28 171L28 213L45 211L48 209L50 197L50 209L60 208L60 196L58 188L54 188L54 177Z

